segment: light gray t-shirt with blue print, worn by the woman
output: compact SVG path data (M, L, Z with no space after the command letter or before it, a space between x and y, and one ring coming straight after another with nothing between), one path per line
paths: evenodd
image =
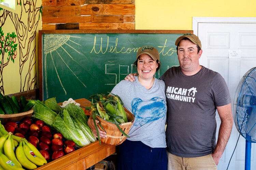
M126 140L141 141L151 148L166 148L166 97L165 83L155 78L148 90L136 81L120 81L111 91L124 102L135 121Z

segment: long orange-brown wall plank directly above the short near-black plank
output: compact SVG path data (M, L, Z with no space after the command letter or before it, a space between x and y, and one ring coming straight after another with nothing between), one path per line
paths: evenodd
M43 17L43 23L91 22L91 16Z

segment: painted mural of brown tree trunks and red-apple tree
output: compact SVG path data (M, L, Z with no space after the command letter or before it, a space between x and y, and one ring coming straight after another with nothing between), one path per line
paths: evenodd
M4 80L2 79L2 74L4 72L4 67L12 62L19 62L19 74L20 74L20 91L26 91L30 89L37 88L37 73L36 73L36 33L37 27L41 15L41 1L38 0L17 0L16 10L20 11L18 13L13 13L5 9L0 9L0 28L5 24L7 19L11 19L16 33L4 33L6 34L4 41L9 36L10 51L11 55L7 52L2 51L0 57L0 92L4 94ZM1 49L5 48L4 41L1 40ZM11 42L13 42L11 44ZM3 42L3 43L2 43ZM15 45L16 44L18 45ZM11 47L13 46L13 47ZM16 48L18 49L15 49ZM15 49L15 50L14 50ZM4 49L5 50L5 49ZM15 52L16 51L16 52ZM17 52L18 51L18 52ZM16 55L15 55L16 54ZM18 60L19 61L18 61Z

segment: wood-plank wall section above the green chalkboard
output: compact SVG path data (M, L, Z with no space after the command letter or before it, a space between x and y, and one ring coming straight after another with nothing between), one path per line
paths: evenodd
M135 0L42 0L42 30L134 30Z

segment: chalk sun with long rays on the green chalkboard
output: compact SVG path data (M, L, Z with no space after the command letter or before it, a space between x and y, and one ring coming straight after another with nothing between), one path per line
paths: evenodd
M47 84L47 74L46 74L46 58L47 58L47 54L49 54L50 59L52 60L55 72L57 74L58 80L60 82L60 85L63 89L63 91L65 92L65 94L67 95L67 91L65 89L65 87L62 84L62 81L59 77L59 73L58 70L54 64L54 58L52 53L57 53L58 56L60 57L61 61L66 65L66 67L72 72L72 74L76 77L76 79L78 81L80 81L84 87L86 87L86 85L77 77L77 75L73 72L73 70L68 66L68 64L65 62L65 60L63 60L63 58L61 57L61 55L59 54L59 52L57 51L58 48L61 48L63 51L65 51L67 53L67 55L71 58L71 60L73 60L76 64L80 65L82 67L82 65L80 63L78 63L77 61L74 60L74 58L68 53L68 51L66 51L65 48L63 48L63 45L67 45L70 48L72 48L75 52L79 53L80 55L83 55L83 53L79 52L78 50L76 50L74 47L70 46L69 44L67 44L67 41L70 41L76 45L81 46L80 44L75 43L74 41L70 40L70 38L81 38L81 37L77 37L77 36L71 36L71 35L65 35L65 34L61 34L61 35L55 35L55 34L47 34L44 36L44 54L45 54L45 60L44 60L44 75L45 75L45 88L46 88L46 97L48 98L48 84ZM82 67L83 68L83 67Z

